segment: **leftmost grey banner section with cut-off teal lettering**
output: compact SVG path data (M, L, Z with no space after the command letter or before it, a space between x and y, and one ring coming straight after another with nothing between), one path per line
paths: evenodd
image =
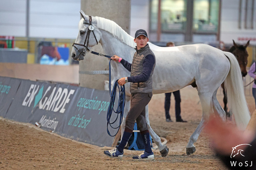
M21 83L21 79L0 77L0 116L5 117Z

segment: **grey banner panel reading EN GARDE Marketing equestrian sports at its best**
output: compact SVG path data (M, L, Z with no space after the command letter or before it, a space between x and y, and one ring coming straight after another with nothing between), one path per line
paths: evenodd
M106 120L109 101L109 91L22 80L5 118L38 122L42 129L67 138L111 146L114 137L107 133ZM111 121L117 115L113 114ZM109 131L114 134L117 129Z

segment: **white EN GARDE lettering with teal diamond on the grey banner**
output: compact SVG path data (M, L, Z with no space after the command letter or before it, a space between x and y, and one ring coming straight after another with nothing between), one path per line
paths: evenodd
M34 107L39 103L39 109L64 113L65 105L69 102L70 95L74 94L75 90L71 89L68 91L67 88L62 87L59 87L57 90L57 87L54 87L51 95L46 97L46 94L52 87L49 86L43 95L44 86L42 86L40 89L39 86L40 85L34 84L30 85L29 91L22 102L22 106L30 107L32 101L35 99Z

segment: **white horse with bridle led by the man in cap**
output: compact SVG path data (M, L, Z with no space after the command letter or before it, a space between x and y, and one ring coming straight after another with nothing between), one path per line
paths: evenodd
M72 48L72 58L83 60L86 49L101 43L106 55L118 55L128 62L132 62L135 52L133 37L127 34L113 21L90 17L80 12L82 19L79 22L79 33ZM91 27L92 26L92 27ZM89 30L93 30L93 34ZM85 42L86 34L87 42ZM84 44L84 45L83 45ZM85 46L86 44L86 46ZM156 66L153 74L153 94L166 93L179 90L188 85L196 87L202 106L202 119L196 130L190 137L186 146L188 155L195 152L196 142L210 114L218 114L223 121L225 112L216 98L218 87L225 81L225 87L237 126L245 129L250 113L243 91L243 82L238 62L233 54L223 52L206 44L183 45L176 47L159 47L149 43L156 56ZM122 77L130 75L120 63L111 63L113 87L114 82ZM122 122L122 135L125 126L125 118L130 107L130 87L125 86L126 104ZM146 107L146 119L149 132L157 144L162 156L168 154L166 145L162 145L160 138L154 133L149 124L148 106Z

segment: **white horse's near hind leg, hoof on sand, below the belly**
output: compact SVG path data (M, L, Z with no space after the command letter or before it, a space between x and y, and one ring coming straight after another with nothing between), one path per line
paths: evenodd
M187 155L191 155L192 153L195 152L195 146L194 142L198 139L199 134L203 130L203 127L205 123L208 121L209 114L213 113L212 110L212 93L210 92L199 92L198 95L200 98L200 102L202 105L202 119L197 128L195 129L194 133L191 135L190 140L186 146L186 153Z

